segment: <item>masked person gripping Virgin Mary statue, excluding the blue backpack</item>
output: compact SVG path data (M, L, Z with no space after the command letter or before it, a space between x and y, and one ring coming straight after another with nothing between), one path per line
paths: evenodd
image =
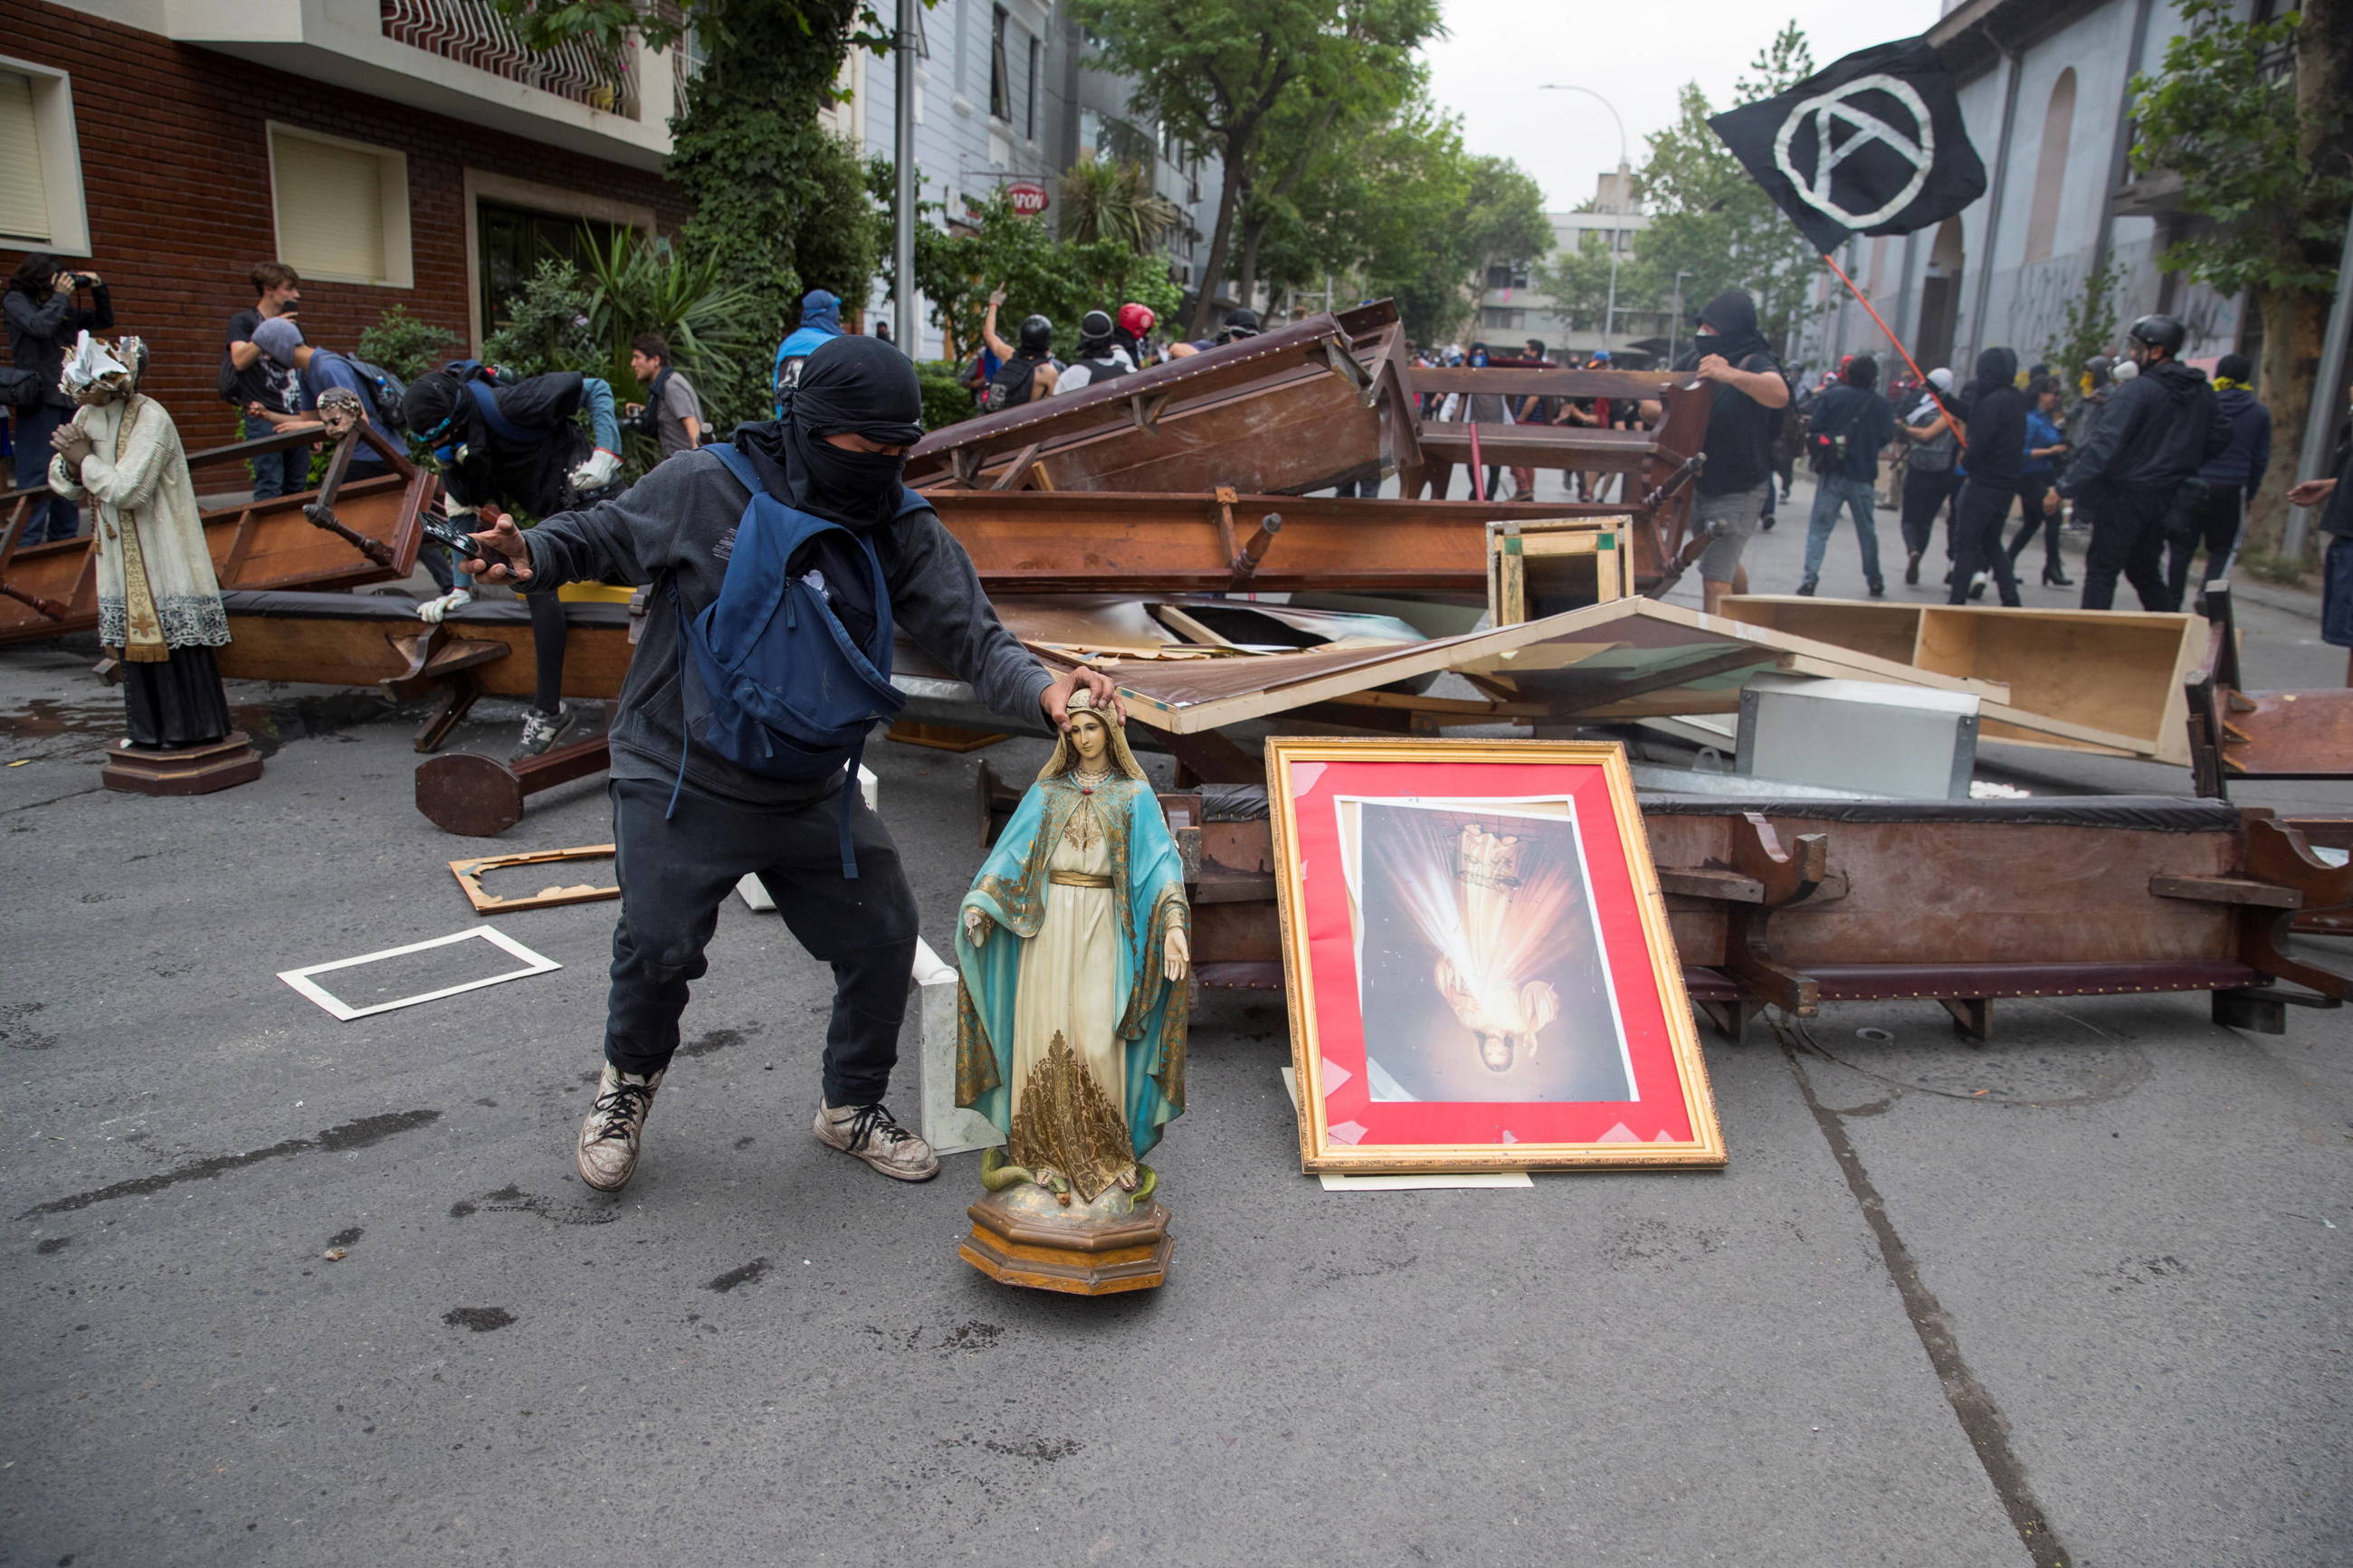
M809 355L784 418L739 425L732 444L767 496L873 545L892 625L972 682L984 703L1005 715L1042 710L1056 726L1080 684L1096 703L1113 703L1108 677L1075 670L1054 679L1014 642L962 545L920 494L899 484L906 451L922 435L920 416L908 357L878 339L842 336ZM687 987L704 976L720 900L751 875L800 945L833 966L819 1143L899 1180L939 1171L929 1145L882 1105L899 1060L918 926L889 830L854 785L842 797L842 771L774 778L729 762L701 731L689 738L687 684L701 677L682 663L680 628L720 597L748 503L715 449L680 451L628 494L588 510L529 531L499 520L475 534L489 564L466 562L466 571L513 581L534 599L558 583L605 576L659 585L656 604L675 595L675 607L645 618L612 722L621 922L612 938L605 1074L574 1157L581 1180L605 1192L638 1166L645 1114L678 1051L678 1018ZM784 571L826 595L861 646L873 637L873 571L856 538L826 529ZM840 853L845 813L856 877Z

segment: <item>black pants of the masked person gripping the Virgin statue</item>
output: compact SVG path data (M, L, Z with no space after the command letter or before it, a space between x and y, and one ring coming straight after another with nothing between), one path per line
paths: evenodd
M899 1063L918 929L915 891L889 827L856 802L852 785L849 832L859 851L852 882L842 877L840 797L760 811L687 788L664 820L668 799L668 783L612 780L621 922L612 931L605 1060L621 1072L668 1067L687 987L704 978L720 900L741 877L758 875L793 938L833 966L826 1103L880 1100Z

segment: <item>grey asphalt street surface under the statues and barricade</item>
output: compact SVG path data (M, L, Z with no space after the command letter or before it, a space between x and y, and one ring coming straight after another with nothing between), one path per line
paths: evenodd
M2344 679L2297 595L2240 621L2249 679ZM87 668L0 651L0 1563L2353 1561L2341 1011L2026 1001L1972 1046L1831 1006L1704 1034L1722 1173L1379 1194L1299 1175L1280 1004L1212 992L1169 1284L1066 1300L955 1258L976 1157L908 1187L812 1140L831 985L774 914L727 903L619 1197L569 1159L614 905L499 917L562 969L374 1018L278 980L482 924L447 860L607 839L600 780L454 839L414 715L240 684L259 783L113 795ZM974 769L1040 752L871 748L934 947ZM471 947L388 985L487 973Z

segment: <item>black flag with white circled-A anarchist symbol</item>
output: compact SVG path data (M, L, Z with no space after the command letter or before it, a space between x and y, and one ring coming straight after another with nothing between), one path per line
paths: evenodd
M1953 73L1925 38L1859 49L1708 127L1824 254L1854 233L1941 223L1986 193Z

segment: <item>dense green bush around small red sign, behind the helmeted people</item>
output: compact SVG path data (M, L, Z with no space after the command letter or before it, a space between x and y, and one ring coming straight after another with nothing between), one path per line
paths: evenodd
M1122 240L1056 240L1045 223L1014 212L1005 193L991 195L972 226L967 235L929 223L915 230L915 287L932 301L953 353L972 353L981 341L991 289L1005 289L1007 339L1012 322L1042 315L1066 350L1078 343L1078 317L1087 310L1134 301L1167 320L1184 303L1167 256L1136 254Z

